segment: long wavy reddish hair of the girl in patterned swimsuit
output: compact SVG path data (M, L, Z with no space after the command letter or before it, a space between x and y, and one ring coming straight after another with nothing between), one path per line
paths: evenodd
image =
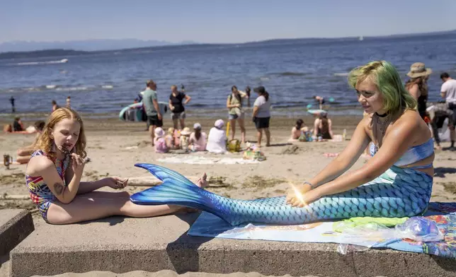
M35 143L35 150L41 150L46 155L55 159L55 148L54 148L54 139L51 139L52 129L54 129L55 124L61 122L63 119L74 119L79 122L81 129L79 129L78 141L76 141L75 150L76 154L80 155L82 158L86 158L86 134L84 133L84 124L82 122L79 114L70 108L60 107L59 109L52 112L52 114L47 119L45 127L42 129L42 134L40 134L38 140Z

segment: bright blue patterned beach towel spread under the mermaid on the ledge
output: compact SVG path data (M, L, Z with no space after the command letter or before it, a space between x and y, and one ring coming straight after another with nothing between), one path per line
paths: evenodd
M440 257L456 259L456 202L431 202L424 218L432 220L443 234L439 242L416 242L409 239L379 238L377 235L352 234L337 232L344 220L309 223L303 225L239 225L233 227L227 222L203 212L193 223L188 235L201 237L218 237L238 240L275 240L284 242L333 242L338 244L355 244L360 247L390 248L406 252L433 254ZM391 221L390 219L388 219ZM404 221L403 219L398 222ZM345 220L347 222L347 220ZM384 218L378 222L385 223ZM394 222L394 221L392 221ZM388 225L388 224L387 224Z

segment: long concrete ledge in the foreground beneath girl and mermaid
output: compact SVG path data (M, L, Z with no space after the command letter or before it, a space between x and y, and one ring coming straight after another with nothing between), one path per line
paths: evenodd
M197 213L39 225L11 251L11 276L86 271L252 271L283 276L456 276L456 262L409 252L342 255L337 244L189 237ZM37 257L39 257L37 259Z

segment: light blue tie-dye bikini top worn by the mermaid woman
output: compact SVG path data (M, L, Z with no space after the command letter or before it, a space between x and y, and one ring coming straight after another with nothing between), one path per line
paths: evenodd
M371 143L370 145L370 155L374 156L376 153L376 147L374 143ZM420 160L423 160L424 158L428 158L434 153L434 141L433 139L429 139L423 144L420 144L419 146L413 146L409 148L409 150L404 153L404 155L397 160L394 165L398 167L403 167L405 165L411 165L412 163L416 163ZM417 165L415 167L409 167L409 168L414 168L414 169L420 169L420 168L429 168L432 167L432 163L428 165Z

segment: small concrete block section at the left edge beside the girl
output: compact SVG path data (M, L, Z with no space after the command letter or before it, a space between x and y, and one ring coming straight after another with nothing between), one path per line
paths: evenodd
M27 210L0 210L0 256L10 252L33 230L32 215Z

